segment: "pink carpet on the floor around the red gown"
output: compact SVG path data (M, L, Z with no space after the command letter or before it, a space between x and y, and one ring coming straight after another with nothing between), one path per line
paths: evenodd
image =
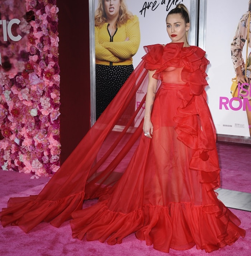
M222 188L251 193L251 172L247 165L250 159L250 145L217 143L222 168ZM0 170L0 208L6 207L9 197L37 194L49 178L30 179L32 175ZM85 202L84 207L94 204L96 200ZM246 237L239 238L232 246L212 252L210 256L249 256L251 255L251 212L231 209L242 221L241 227L246 229ZM192 248L188 251L170 250L163 253L146 246L134 234L123 239L122 244L109 246L99 241L79 241L71 237L69 222L60 228L48 223L41 223L34 230L25 234L18 227L0 226L0 255L3 256L196 256L205 255L204 251Z

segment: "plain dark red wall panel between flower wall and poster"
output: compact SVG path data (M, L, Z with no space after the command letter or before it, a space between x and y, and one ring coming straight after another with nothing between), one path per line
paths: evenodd
M90 128L88 1L58 0L61 164Z

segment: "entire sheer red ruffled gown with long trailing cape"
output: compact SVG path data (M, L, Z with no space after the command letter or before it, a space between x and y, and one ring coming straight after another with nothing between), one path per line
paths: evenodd
M210 252L245 236L216 197L216 134L205 93L205 52L183 43L148 52L93 128L37 196L10 198L3 226L25 232L41 221L71 220L73 237L121 243L135 232L160 251L196 244ZM147 70L156 70L153 138L144 136ZM132 102L137 108L128 113ZM122 118L123 116L123 118ZM127 120L117 125L118 120ZM99 202L82 210L84 199Z

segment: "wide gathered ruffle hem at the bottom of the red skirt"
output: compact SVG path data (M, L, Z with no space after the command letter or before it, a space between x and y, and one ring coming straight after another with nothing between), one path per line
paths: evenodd
M170 203L168 206L143 205L127 214L113 212L99 202L87 209L72 213L70 221L72 237L87 241L99 240L110 245L122 243L122 239L136 232L148 246L158 251L169 249L188 250L196 244L197 249L212 252L233 244L245 230L237 227L238 218L221 202L221 215L207 213L202 206L190 203Z

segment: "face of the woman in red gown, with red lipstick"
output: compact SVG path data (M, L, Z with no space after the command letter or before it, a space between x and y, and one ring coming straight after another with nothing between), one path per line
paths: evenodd
M189 26L179 13L170 14L166 18L166 30L172 42L186 42L186 30Z

